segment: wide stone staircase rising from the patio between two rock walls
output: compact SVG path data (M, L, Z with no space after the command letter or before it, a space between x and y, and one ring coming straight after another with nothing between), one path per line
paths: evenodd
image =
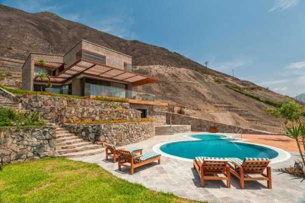
M55 156L75 158L82 156L92 156L105 152L101 145L95 145L79 139L75 134L70 133L65 128L56 128L56 148Z

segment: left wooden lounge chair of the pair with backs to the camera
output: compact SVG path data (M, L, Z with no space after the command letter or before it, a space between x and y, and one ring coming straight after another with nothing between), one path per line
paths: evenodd
M225 158L198 156L195 157L193 164L200 176L201 187L204 187L204 180L226 180L227 187L231 187L230 166ZM223 174L224 177L207 176L218 174Z

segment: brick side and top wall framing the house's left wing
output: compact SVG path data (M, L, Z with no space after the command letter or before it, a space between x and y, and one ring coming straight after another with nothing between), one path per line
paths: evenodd
M22 66L22 89L33 91L35 78L35 61L39 59L60 63L64 61L64 57L61 55L31 53Z

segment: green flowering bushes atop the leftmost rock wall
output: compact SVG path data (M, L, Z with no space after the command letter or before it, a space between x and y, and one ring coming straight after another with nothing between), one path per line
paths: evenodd
M0 108L0 126L45 125L40 112L20 113L11 108Z

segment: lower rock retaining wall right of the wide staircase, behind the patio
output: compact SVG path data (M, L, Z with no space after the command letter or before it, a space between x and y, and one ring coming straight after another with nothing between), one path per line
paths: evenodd
M62 126L79 138L94 144L106 142L114 146L123 146L155 136L154 122L81 125L64 123Z

